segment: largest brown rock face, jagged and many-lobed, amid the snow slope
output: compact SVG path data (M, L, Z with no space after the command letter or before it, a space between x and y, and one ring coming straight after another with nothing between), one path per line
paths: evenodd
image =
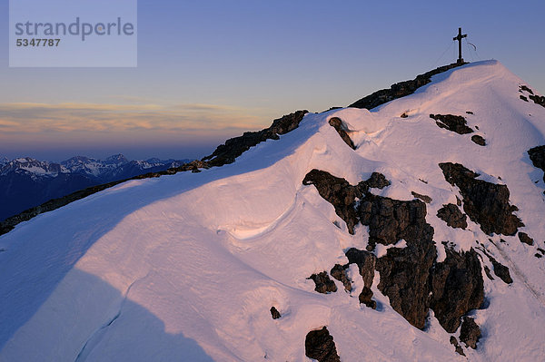
M436 263L433 228L426 222L425 203L373 195L369 192L370 185L382 178L376 174L352 186L328 172L312 170L303 183L313 184L325 200L338 202L342 212L337 214L347 218L347 225L350 221L352 228L358 222L369 226L369 250L352 248L346 252L349 264L357 264L362 275L364 288L360 301L373 306L371 287L377 270L381 276L377 288L411 325L424 328L432 308L441 326L452 333L460 326L461 317L471 309L480 308L484 298L477 253L472 249L465 253L448 249L447 258ZM378 183L384 185L383 181ZM403 249L388 249L379 259L370 252L376 243L391 245L401 239L407 244Z

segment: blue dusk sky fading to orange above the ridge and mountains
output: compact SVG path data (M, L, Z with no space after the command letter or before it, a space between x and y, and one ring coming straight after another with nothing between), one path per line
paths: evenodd
M8 67L0 157L201 158L300 109L346 106L456 61L497 59L545 93L545 2L138 1L136 68Z

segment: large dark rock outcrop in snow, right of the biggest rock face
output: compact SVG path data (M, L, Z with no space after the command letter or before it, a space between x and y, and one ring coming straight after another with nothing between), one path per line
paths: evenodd
M506 185L477 180L479 174L460 163L440 163L445 180L458 186L463 197L463 210L471 220L481 225L486 234L514 235L524 224L513 215L519 210L509 203L510 191Z

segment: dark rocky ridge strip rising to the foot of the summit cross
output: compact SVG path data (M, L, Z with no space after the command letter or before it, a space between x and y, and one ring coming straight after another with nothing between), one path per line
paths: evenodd
M453 63L449 65L443 65L439 68L436 68L430 72L423 73L418 75L415 79L411 81L405 81L401 83L392 84L390 89L382 89L375 93L372 93L366 97L363 97L361 100L356 101L349 105L349 107L354 108L367 108L368 110L373 109L381 104L388 103L394 99L404 97L414 93L422 85L426 85L431 82L431 77L435 74L446 72L457 66L461 66L467 63Z

